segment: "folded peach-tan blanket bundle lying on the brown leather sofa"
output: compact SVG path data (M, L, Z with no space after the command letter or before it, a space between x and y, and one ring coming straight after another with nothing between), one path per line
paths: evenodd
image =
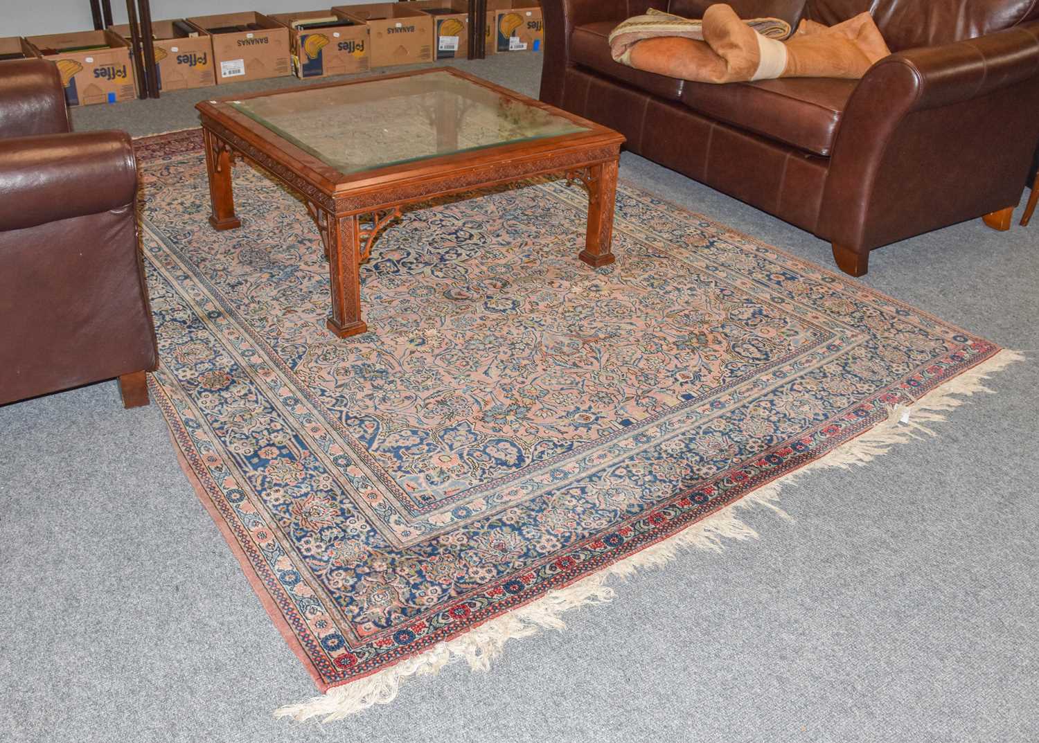
M890 54L868 12L836 26L802 21L790 35L785 21L742 21L724 3L708 7L702 21L649 10L620 23L609 42L614 60L621 64L712 83L778 77L855 79Z

